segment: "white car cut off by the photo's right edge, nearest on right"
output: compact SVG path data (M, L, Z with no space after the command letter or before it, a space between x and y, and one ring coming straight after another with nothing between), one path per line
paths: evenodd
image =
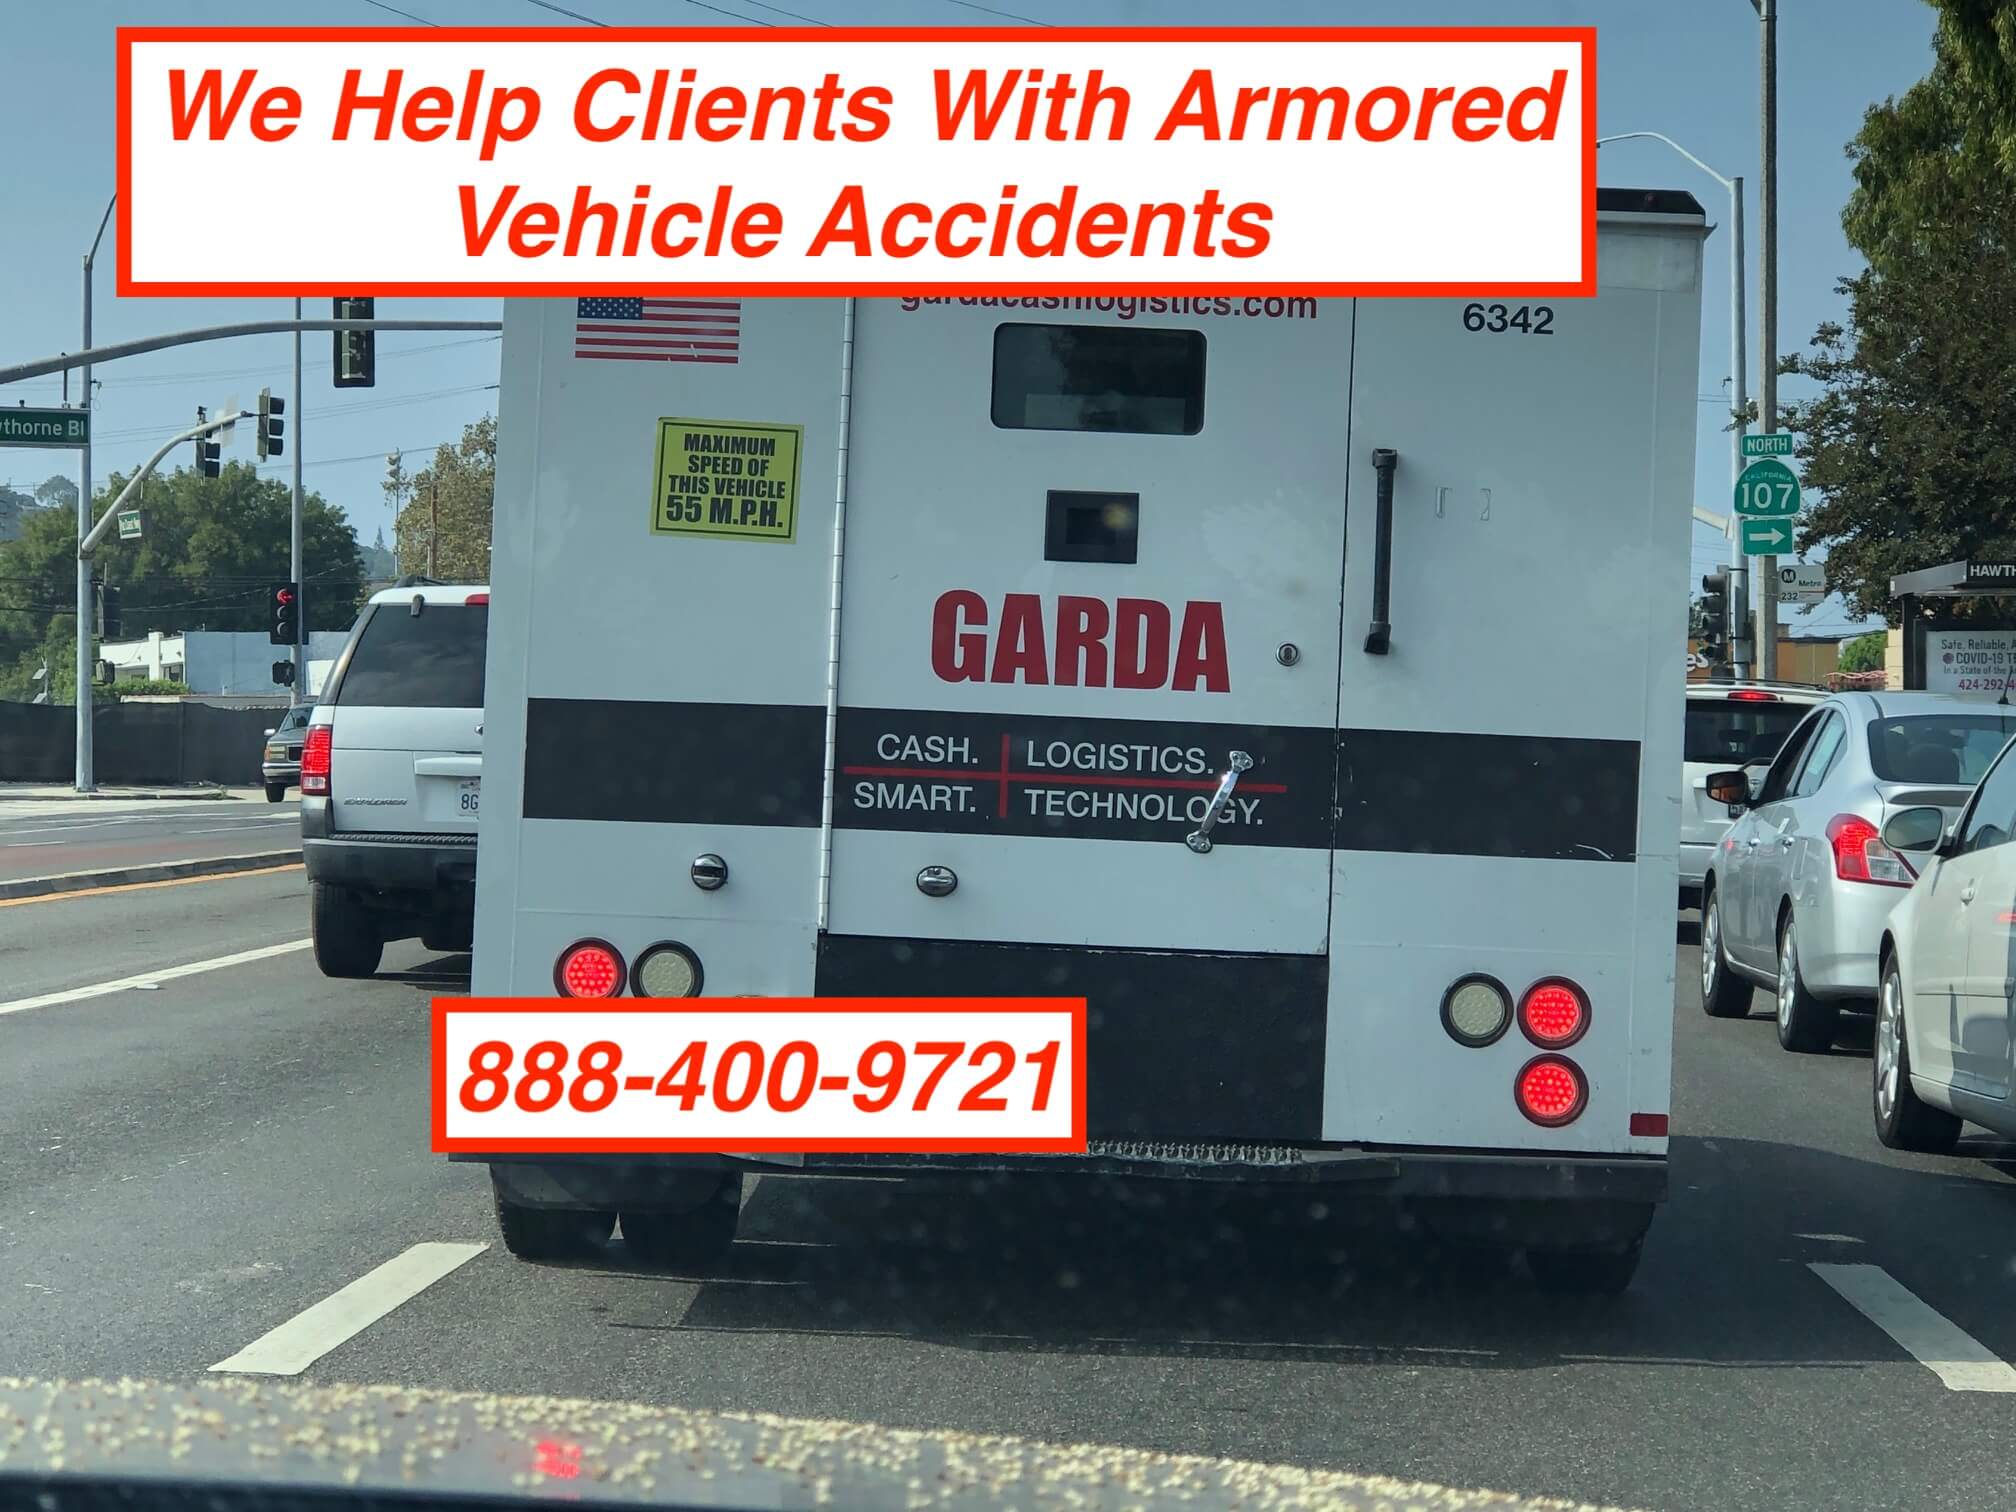
M1937 808L1905 808L1883 825L1883 841L1919 865L1879 946L1873 1101L1877 1137L1891 1149L1947 1151L1962 1119L2016 1137L2010 748L1951 827Z

